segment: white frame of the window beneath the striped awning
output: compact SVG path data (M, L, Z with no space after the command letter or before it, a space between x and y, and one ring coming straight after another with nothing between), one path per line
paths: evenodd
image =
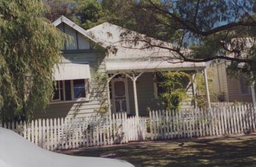
M87 81L88 80L88 81ZM59 87L60 87L60 81L59 82ZM65 94L65 81L61 80L62 85L63 85L63 99L66 99L66 94ZM61 97L59 99L55 99L51 101L51 104L56 104L56 103L72 103L72 102L79 102L79 101L89 101L90 98L90 88L88 87L90 85L90 79L89 78L84 78L84 87L85 87L85 98L74 98L74 80L70 80L70 89L71 89L71 100L61 100ZM88 85L86 85L88 83ZM60 89L59 89L59 95L60 94Z

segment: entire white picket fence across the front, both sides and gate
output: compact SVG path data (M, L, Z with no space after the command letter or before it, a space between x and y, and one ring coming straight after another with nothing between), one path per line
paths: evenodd
M256 105L213 105L208 110L152 111L143 117L126 113L83 118L38 119L0 124L47 150L74 149L151 140L256 132Z

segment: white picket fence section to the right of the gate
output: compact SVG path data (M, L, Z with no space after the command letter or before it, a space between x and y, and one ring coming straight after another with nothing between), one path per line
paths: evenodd
M255 132L256 106L221 105L208 110L150 112L151 140Z

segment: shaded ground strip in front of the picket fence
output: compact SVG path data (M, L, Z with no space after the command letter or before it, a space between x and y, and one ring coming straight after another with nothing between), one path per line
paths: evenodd
M256 166L256 134L137 142L61 153L122 159L135 166Z

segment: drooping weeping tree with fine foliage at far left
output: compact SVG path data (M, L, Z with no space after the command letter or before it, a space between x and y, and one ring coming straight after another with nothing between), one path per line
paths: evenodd
M0 121L28 120L52 98L65 36L41 1L0 1Z

